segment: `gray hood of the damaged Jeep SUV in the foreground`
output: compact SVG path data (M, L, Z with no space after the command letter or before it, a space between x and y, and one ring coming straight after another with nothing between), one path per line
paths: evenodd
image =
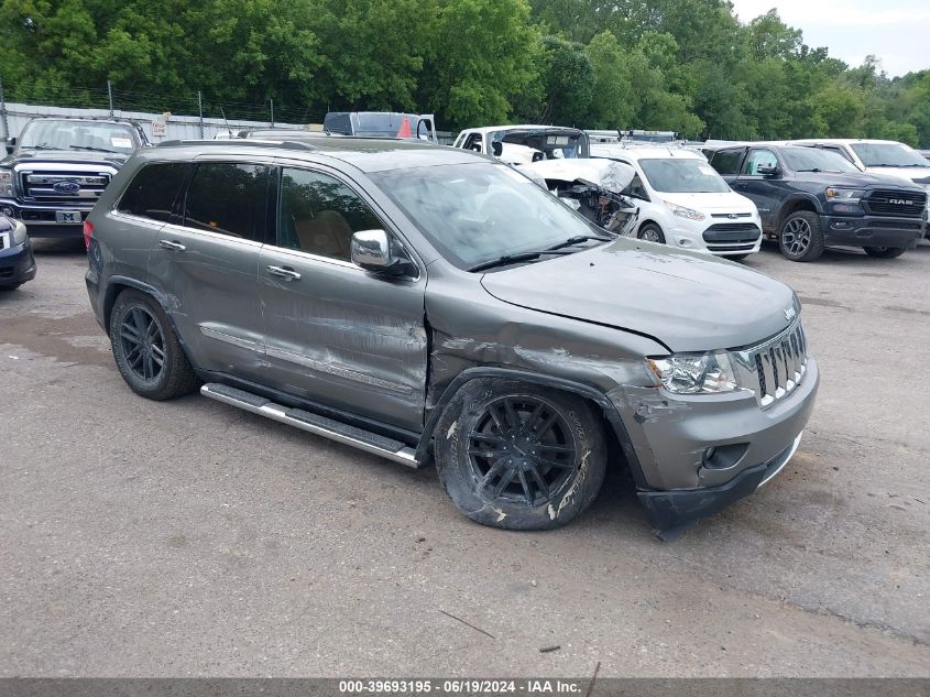
M481 284L505 303L647 335L672 351L757 344L788 326L796 302L784 283L737 263L627 238L486 273Z

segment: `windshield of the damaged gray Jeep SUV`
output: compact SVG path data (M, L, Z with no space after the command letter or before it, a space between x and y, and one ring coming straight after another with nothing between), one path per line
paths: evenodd
M572 237L604 235L503 164L414 167L372 178L460 269L544 250Z

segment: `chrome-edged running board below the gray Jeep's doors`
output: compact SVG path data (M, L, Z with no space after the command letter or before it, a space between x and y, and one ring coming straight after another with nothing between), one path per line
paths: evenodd
M386 457L389 460L418 469L422 464L416 459L416 451L393 438L376 433L357 428L319 414L313 414L302 409L292 409L275 404L258 394L230 388L218 382L209 382L200 388L200 394L223 404L231 404L241 410L267 416L282 424L294 426L337 443L350 445L353 448Z

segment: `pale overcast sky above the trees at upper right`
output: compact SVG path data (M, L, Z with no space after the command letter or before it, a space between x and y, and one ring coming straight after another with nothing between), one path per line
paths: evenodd
M930 0L731 0L742 22L772 8L851 66L874 54L891 76L930 68Z

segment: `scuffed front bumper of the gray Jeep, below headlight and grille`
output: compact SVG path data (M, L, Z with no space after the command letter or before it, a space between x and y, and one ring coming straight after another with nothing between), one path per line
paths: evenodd
M766 409L747 391L714 397L655 388L612 391L652 522L667 529L709 515L774 477L794 455L819 383L817 361L809 357L798 386ZM708 458L708 448L718 455Z

